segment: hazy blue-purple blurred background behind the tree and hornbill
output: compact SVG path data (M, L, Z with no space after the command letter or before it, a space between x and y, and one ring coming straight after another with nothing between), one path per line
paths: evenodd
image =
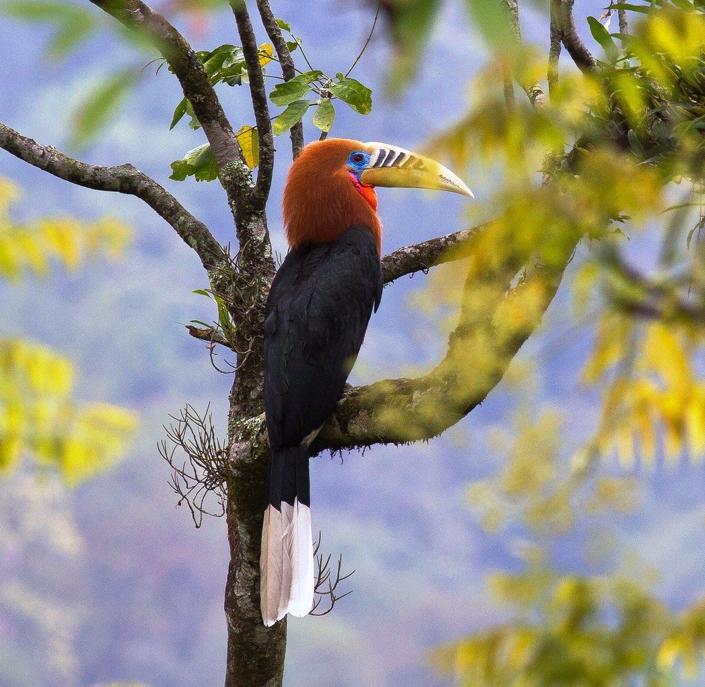
M328 73L345 71L372 20L360 4L344 0L274 0L273 6L304 39L314 66ZM578 18L600 11L599 2L576 3ZM546 44L542 20L527 12L522 27L527 39ZM212 48L235 42L233 32L231 16L223 14L207 35L189 37L198 49ZM123 64L142 66L149 57L130 58L123 44L102 33L57 66L41 57L47 35L0 20L0 120L66 149L72 106L97 75ZM264 42L261 30L259 38ZM458 116L484 51L460 2L448 0L419 78L398 102L386 101L382 93L388 54L379 31L355 72L374 90L373 112L361 117L339 107L332 135L414 149ZM243 90L223 88L221 94L236 128L252 123ZM179 99L167 70L158 76L147 70L102 142L80 157L101 164L133 162L204 220L221 242L234 242L216 183L168 180L169 163L204 140L185 122L168 131ZM307 140L314 135L309 125L306 135ZM288 138L278 140L278 149L269 227L283 253L278 202L289 163ZM168 469L156 450L168 413L187 402L199 409L210 403L216 426L225 433L231 377L212 368L204 345L183 328L194 318L214 318L207 299L191 293L207 287L199 261L136 199L73 187L4 153L0 174L25 189L18 218L92 219L107 213L135 228L123 261L94 264L78 276L0 285L0 311L4 335L47 342L75 361L81 400L114 402L140 416L139 434L123 464L80 488L37 483L23 471L0 483L2 585L27 588L59 609L49 631L0 618L0 670L13 686L89 686L118 679L153 686L221 683L225 524L208 519L196 530L188 512L174 508ZM490 179L467 181L479 199L487 197ZM380 190L384 252L464 227L464 208L464 200L453 194ZM653 245L648 236L636 239L632 256L648 263ZM416 276L385 289L353 373L357 381L397 375L433 361L442 349L443 340L408 307L423 283L424 277ZM567 303L561 292L546 332L527 344L522 358L541 380L537 406L548 404L565 414L570 446L591 431L596 400L577 382L589 332L572 328ZM467 483L496 470L498 456L487 431L506 424L511 408L501 385L460 423L462 447L455 432L413 447L353 452L342 464L338 457L314 461L314 529L323 531L326 550L343 552L357 572L353 595L333 614L290 621L287 685L443 684L429 668L429 648L503 617L505 609L491 597L486 575L518 567L514 535L485 533L463 498ZM642 507L618 521L620 547L661 570L658 592L682 607L700 595L705 577L703 471L699 465L659 468L639 479ZM26 524L16 521L18 512ZM59 534L52 523L61 525ZM582 544L588 534L589 524L579 524L560 557L562 567L585 569ZM57 651L68 657L63 664L56 662L48 640L56 637L61 638Z

